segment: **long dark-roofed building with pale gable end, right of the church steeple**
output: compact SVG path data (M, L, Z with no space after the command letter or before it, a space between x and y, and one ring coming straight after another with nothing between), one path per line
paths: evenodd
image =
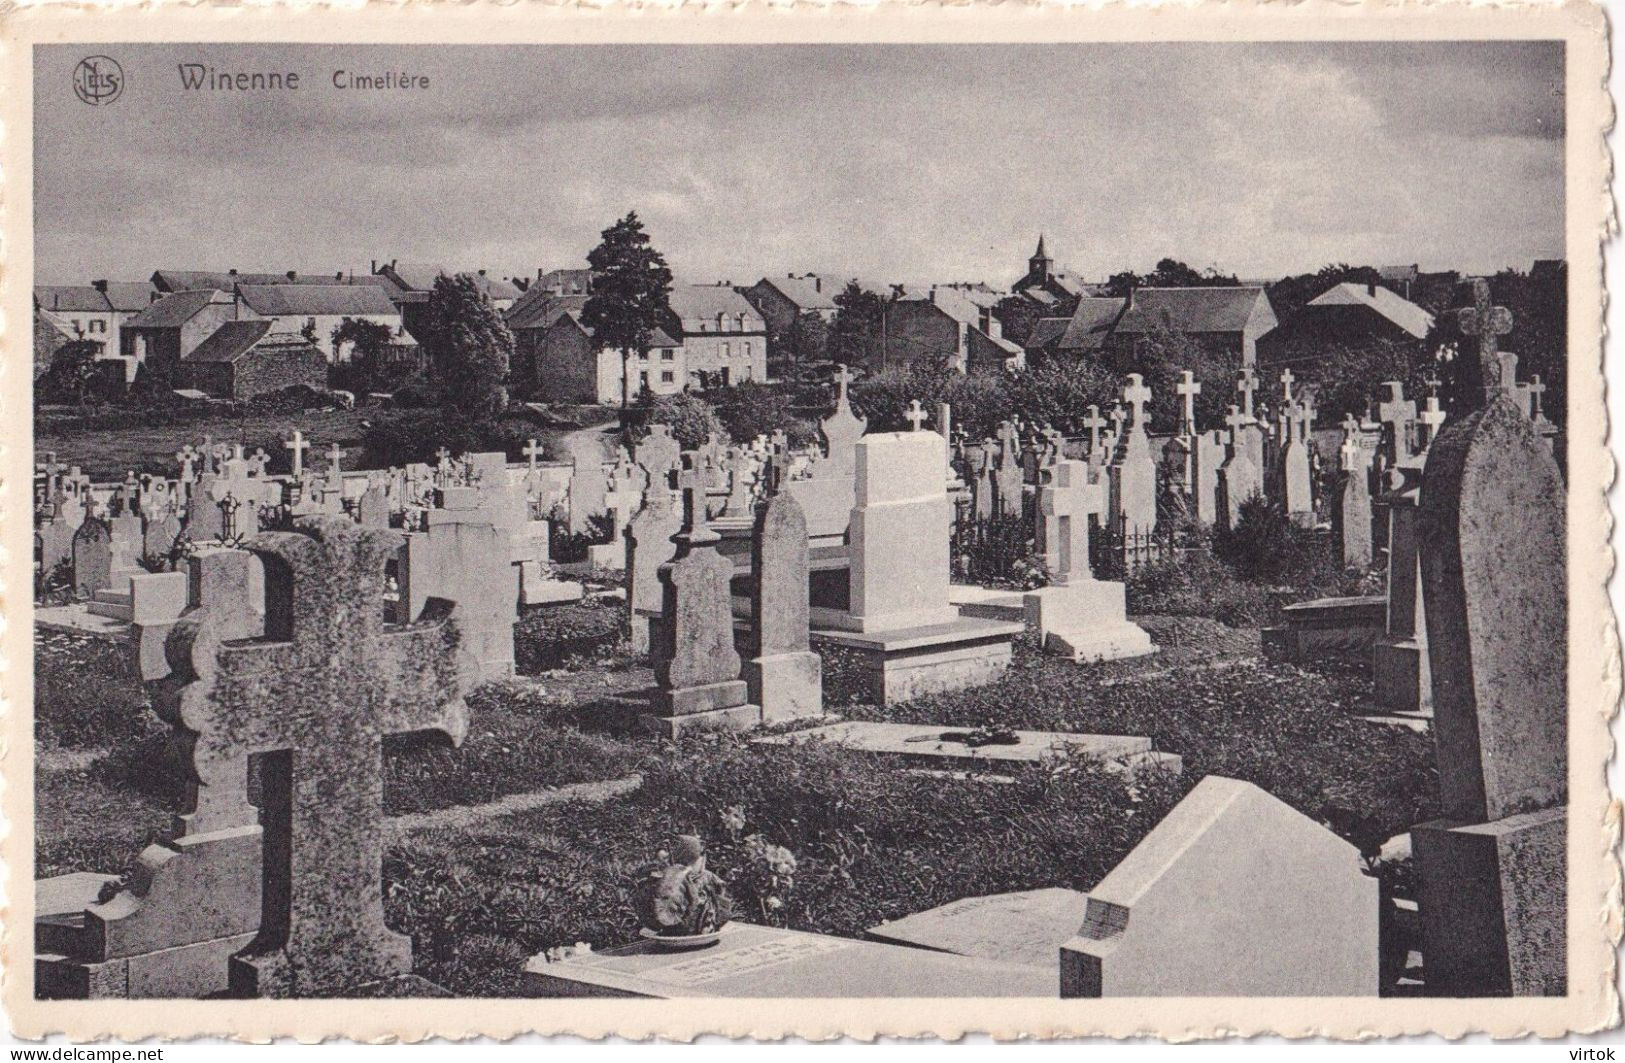
M1159 332L1170 332L1242 369L1258 364L1258 341L1274 327L1276 310L1259 286L1138 288L1103 346L1133 361Z

